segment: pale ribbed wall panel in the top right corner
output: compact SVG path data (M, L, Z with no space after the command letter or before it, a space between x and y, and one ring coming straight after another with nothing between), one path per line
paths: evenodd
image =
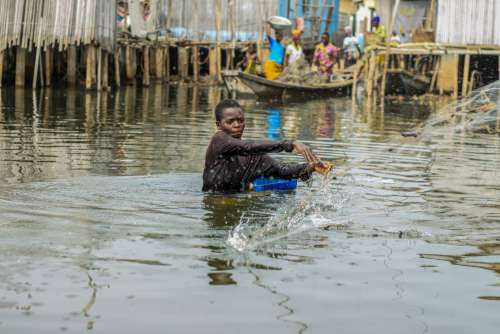
M500 45L498 16L498 0L439 0L436 42Z

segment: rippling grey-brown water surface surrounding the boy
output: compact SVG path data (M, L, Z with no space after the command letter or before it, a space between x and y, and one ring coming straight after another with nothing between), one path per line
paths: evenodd
M2 91L1 333L498 331L498 136L400 135L433 106L243 101L247 138L337 178L221 197L200 191L220 98Z

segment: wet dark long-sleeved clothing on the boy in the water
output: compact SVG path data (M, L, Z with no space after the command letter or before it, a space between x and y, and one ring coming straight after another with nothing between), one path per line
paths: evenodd
M266 153L292 152L292 141L246 141L218 131L210 141L203 191L244 191L258 177L307 179L308 164L281 164Z

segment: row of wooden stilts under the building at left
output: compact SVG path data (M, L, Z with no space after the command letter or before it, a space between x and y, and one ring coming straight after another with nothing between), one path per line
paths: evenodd
M22 47L15 47L12 50L15 52L15 57L7 57L6 50L0 52L0 87L5 81L6 67L15 71L10 77L15 77L13 82L17 87L25 87L30 80L33 88L51 86L54 80L54 66L61 67L61 64L55 62L61 61L65 61L66 68L64 73L59 73L59 77L65 77L68 85L80 83L86 89L106 90L112 81L118 87L123 84L148 86L152 82L174 80L220 83L223 65L225 69L233 69L235 66L235 48L239 47L194 42L189 45L118 43L114 53L88 44L70 45L63 51L59 51L56 47L48 47L39 54L39 52L30 53ZM225 54L224 64L223 54ZM54 56L57 56L57 60ZM6 66L9 65L6 62L14 58L15 67ZM208 70L201 71L202 65ZM82 77L79 75L80 68L85 69L82 80L79 80Z

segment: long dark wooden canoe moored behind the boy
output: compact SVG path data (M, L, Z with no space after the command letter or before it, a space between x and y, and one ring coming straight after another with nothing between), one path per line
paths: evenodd
M338 80L317 86L299 85L263 77L238 73L238 78L259 98L279 99L285 97L315 98L321 96L346 96L352 87L352 79Z

